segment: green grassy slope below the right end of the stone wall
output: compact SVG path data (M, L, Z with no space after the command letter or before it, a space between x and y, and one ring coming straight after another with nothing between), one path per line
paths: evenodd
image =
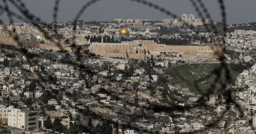
M230 64L228 64L229 66ZM217 76L219 70L221 81L216 84L215 89L220 88L221 84L226 84L226 71L221 68L221 64L184 64L176 66L171 69L165 69L169 74L169 80L172 85L181 85L182 87L190 87L195 92L206 92L213 91L212 85L214 85L214 80ZM230 68L230 67L229 67ZM215 71L216 70L216 71ZM239 71L234 71L229 69L231 82L236 81L236 77L240 73ZM210 88L211 87L211 88Z

